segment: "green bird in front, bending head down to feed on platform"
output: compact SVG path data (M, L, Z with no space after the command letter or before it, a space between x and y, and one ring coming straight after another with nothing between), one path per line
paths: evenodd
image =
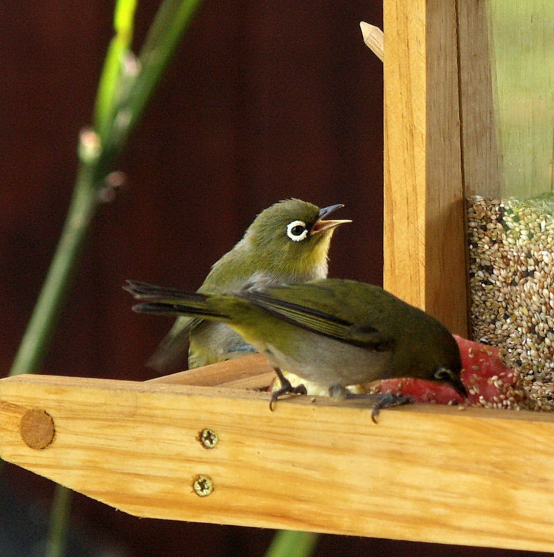
M200 317L239 333L278 375L281 388L271 395L271 403L282 394L305 394L303 385L292 387L283 370L327 388L333 398L364 397L346 387L402 377L446 382L467 396L451 333L379 286L322 279L210 294L127 283L126 289L142 302L134 306L137 312ZM378 400L374 414L379 407L407 401L369 397Z

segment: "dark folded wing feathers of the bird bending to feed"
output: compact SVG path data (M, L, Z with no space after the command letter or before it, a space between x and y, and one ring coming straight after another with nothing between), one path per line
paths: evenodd
M386 337L377 328L368 324L354 324L329 312L303 306L258 290L247 290L235 296L249 301L253 306L283 321L340 342L378 351L388 350L393 346L393 337Z

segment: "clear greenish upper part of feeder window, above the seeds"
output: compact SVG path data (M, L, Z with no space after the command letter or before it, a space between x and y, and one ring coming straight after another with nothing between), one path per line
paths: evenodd
M488 15L502 196L551 193L554 3L490 0Z

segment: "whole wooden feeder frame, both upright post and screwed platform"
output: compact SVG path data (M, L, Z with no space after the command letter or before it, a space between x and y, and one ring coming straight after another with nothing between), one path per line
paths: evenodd
M484 6L384 1L385 287L461 335L464 186L497 172ZM141 517L554 551L553 415L269 412L253 389L272 376L252 355L148 382L6 378L0 456Z

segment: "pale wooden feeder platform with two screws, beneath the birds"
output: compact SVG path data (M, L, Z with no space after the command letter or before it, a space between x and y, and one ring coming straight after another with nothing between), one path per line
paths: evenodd
M269 383L260 355L192 375L0 380L0 456L141 517L554 551L551 414L412 405L375 425L326 398L270 412L237 387Z

